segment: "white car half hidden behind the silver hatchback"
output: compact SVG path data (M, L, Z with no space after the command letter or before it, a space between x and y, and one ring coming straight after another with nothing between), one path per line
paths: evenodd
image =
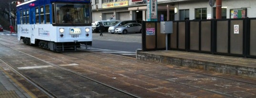
M125 25L125 24L127 24L127 23L137 23L137 21L136 21L136 20L119 21L119 22L115 23L113 26L109 27L109 28L108 28L108 32L111 33L111 34L114 34L115 29L116 29L117 27L121 27L121 26L123 26L123 25Z

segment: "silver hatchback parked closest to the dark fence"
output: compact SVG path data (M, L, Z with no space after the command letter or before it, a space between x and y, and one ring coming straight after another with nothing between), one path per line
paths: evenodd
M125 25L123 25L122 27L118 27L115 29L115 33L118 34L127 34L127 33L131 33L131 32L142 32L141 29L141 24L140 23L127 23Z

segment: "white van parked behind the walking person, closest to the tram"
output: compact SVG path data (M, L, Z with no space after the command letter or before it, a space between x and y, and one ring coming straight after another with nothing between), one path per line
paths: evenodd
M95 21L92 23L92 31L99 32L100 24L103 25L104 29L103 31L107 31L110 26L113 26L116 22L119 20L101 20L101 21Z

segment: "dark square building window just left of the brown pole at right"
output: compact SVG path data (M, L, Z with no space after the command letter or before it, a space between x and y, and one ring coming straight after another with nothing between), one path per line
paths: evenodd
M195 20L205 20L207 18L207 8L195 9Z

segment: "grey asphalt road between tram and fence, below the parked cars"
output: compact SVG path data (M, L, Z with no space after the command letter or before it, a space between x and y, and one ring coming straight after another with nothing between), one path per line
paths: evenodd
M93 33L92 47L136 52L136 49L142 49L141 34L104 33L101 37L98 33Z

